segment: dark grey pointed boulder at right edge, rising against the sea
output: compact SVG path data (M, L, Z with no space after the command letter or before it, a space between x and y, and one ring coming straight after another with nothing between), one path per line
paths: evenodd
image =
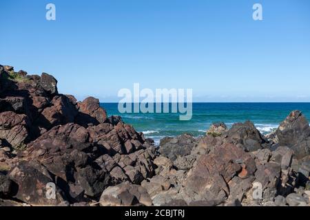
M276 131L279 145L288 146L298 159L310 155L310 126L301 111L292 111Z

